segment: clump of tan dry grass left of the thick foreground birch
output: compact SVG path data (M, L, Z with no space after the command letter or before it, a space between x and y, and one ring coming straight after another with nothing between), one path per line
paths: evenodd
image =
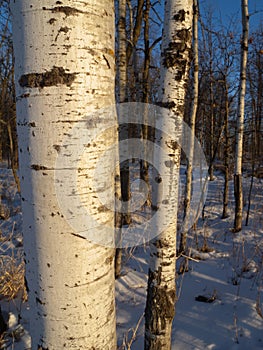
M14 256L0 256L0 299L12 300L19 294L26 300L24 263L18 263Z

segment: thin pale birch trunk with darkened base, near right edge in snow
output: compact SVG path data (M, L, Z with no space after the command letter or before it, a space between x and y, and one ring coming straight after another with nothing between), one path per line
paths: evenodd
M235 193L235 221L234 231L242 229L243 214L243 189L242 189L242 156L243 156L243 135L244 135L244 115L245 115L245 94L246 94L246 68L248 56L248 30L249 14L248 0L242 0L242 42L241 42L241 62L240 62L240 87L237 112L236 129L236 159L234 174L234 193Z

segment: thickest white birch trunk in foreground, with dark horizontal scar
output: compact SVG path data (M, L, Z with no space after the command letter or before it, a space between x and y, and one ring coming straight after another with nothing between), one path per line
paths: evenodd
M87 227L87 232L69 225L54 179L67 193L69 169L62 167L62 175L55 174L59 155L73 172L79 170L79 193L68 195L65 203L71 208L68 215L80 220L71 204L78 195L113 232L113 211L101 210L96 190L84 179L92 178L96 159L110 140L116 141L116 133L105 131L98 142L81 145L83 168L67 150L78 145L78 132L86 129L92 138L107 124L106 118L96 119L92 113L114 101L114 3L12 0L11 7L32 349L113 350L114 249L85 239L90 231L104 237L103 225ZM105 162L96 179L102 188L107 184L114 189L112 161Z

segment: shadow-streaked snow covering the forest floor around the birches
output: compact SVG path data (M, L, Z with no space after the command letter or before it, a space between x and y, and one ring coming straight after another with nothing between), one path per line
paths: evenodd
M23 246L19 196L11 170L0 169L0 184L2 203L10 210L10 217L0 220L3 276L10 257L20 266ZM244 177L244 218L249 185L250 178ZM242 232L233 233L232 187L230 217L222 220L223 176L216 173L215 181L209 182L204 218L189 233L189 271L177 278L173 350L263 349L262 188L263 180L254 179L249 224ZM143 350L148 257L147 246L124 253L122 276L116 283L118 345L122 350ZM183 259L178 259L178 269ZM0 290L4 287L1 283ZM29 349L27 305L21 302L21 292L11 301L1 298L0 303L4 318L9 319L8 346L2 349Z

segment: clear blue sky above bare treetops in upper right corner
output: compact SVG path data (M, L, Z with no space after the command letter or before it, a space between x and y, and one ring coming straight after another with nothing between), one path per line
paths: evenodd
M211 7L214 12L214 17L219 18L220 15L226 20L233 16L237 16L241 23L241 0L199 0L201 10L202 8ZM259 22L263 22L263 0L248 0L249 13L259 13L254 14L250 17L250 26L253 29L254 26L258 25ZM260 12L261 11L261 12ZM238 19L237 18L237 19Z

